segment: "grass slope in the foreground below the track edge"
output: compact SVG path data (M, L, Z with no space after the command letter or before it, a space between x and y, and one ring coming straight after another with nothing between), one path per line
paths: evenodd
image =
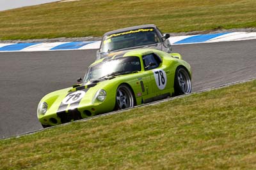
M0 169L256 169L256 80L0 141Z

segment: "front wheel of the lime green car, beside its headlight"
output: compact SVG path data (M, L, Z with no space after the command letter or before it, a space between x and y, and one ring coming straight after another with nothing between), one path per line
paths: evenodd
M115 110L132 108L135 105L136 101L131 88L125 84L120 85L116 90Z

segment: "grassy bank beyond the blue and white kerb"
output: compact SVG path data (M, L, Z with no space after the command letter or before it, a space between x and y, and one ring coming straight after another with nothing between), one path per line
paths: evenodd
M82 0L0 12L0 39L102 36L140 24L163 32L256 27L255 0Z

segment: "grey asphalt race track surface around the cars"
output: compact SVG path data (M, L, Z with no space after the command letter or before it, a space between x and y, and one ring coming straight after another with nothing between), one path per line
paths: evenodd
M256 40L175 45L193 68L193 91L256 77ZM70 87L95 60L96 50L0 53L0 139L42 129L40 99Z

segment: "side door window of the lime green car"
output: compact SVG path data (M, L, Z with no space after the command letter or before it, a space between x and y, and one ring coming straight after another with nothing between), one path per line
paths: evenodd
M161 63L161 59L155 53L143 55L142 59L145 70L157 68Z

